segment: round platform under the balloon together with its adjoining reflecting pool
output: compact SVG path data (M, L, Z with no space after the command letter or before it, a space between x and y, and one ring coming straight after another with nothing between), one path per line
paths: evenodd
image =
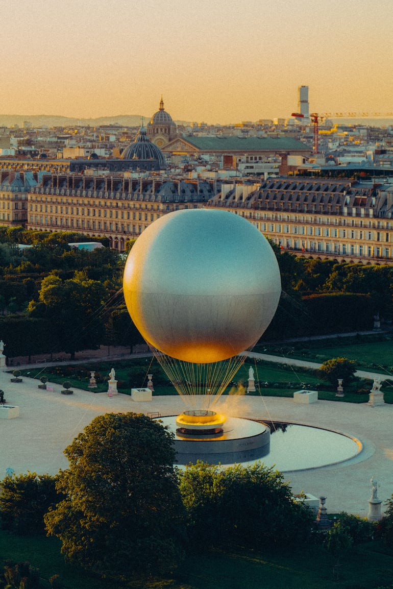
M179 466L195 464L197 460L230 465L253 464L260 459L266 466L289 472L345 462L362 451L362 443L356 438L297 423L260 423L231 417L227 418L220 437L193 437L181 436L176 431L176 416L159 419L174 433Z

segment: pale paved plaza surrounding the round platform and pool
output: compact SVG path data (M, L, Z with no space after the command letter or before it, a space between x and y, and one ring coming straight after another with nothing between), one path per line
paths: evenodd
M0 389L9 405L19 406L15 419L0 419L0 479L12 468L16 474L56 474L68 466L63 453L95 416L108 412L178 415L184 403L177 395L153 396L151 402L134 402L131 396L93 393L73 389L73 395L38 389L38 380L23 377L10 382L11 374L0 372ZM49 383L48 383L49 384ZM383 382L382 382L383 389ZM371 477L378 481L378 497L393 493L393 405L370 407L345 402L318 401L308 405L293 399L262 396L223 396L217 407L227 415L319 426L357 438L362 451L354 458L322 468L285 472L294 493L325 495L328 512L348 511L366 516L371 495ZM321 448L323 452L323 448Z

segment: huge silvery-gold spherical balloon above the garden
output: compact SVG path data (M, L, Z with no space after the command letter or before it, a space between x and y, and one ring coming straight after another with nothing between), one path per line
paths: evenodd
M154 348L186 362L231 358L255 345L276 312L276 256L249 221L186 209L154 221L128 255L128 313Z

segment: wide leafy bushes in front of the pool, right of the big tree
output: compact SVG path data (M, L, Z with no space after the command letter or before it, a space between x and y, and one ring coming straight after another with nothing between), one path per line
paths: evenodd
M311 512L293 501L280 472L260 463L220 469L198 462L180 475L180 492L194 549L288 546L311 531Z

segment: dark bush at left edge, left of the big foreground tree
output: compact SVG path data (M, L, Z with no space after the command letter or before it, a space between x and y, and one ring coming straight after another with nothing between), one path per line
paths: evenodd
M62 498L55 477L28 472L5 477L0 487L2 529L19 535L44 534L44 514Z

